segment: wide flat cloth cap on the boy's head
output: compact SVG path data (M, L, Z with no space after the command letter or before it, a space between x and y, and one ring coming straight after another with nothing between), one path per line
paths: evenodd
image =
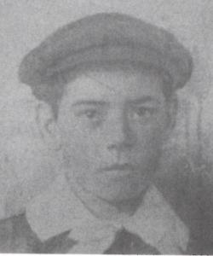
M174 89L190 79L192 57L170 33L130 15L89 15L61 27L20 63L20 82L37 85L85 63L133 62L164 71Z

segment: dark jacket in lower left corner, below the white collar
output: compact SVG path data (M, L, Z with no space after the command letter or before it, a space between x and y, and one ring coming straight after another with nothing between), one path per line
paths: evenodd
M0 221L0 253L66 253L75 241L62 232L47 241L40 241L32 231L25 214Z

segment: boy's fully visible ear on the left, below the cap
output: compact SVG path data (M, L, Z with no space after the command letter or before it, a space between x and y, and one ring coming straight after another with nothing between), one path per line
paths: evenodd
M39 102L37 104L36 121L43 142L51 149L59 149L60 131L57 125L57 119L55 118L52 108L50 108L47 103Z

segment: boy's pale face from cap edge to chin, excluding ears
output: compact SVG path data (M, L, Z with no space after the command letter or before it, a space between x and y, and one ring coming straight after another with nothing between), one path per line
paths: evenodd
M67 84L55 122L69 181L112 203L141 195L170 130L162 83L153 72L93 71Z

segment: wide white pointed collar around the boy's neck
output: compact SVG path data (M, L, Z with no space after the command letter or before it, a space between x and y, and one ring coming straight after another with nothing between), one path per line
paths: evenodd
M186 251L189 239L186 225L182 223L176 212L153 185L147 190L143 204L132 217L124 221L112 222L95 218L71 193L66 179L59 177L44 194L37 196L26 207L26 218L41 241L46 241L66 230L72 230L70 233L72 239L83 240L85 238L83 238L83 234L87 236L86 230L89 230L89 237L91 237L91 234L95 234L95 230L94 233L91 232L94 227L96 230L102 229L106 233L107 230L110 230L110 226L117 231L123 224L124 227L127 226L130 231L141 236L143 241L164 254ZM113 228L111 233L113 233ZM112 236L110 237L109 243L112 241ZM98 244L101 245L100 241ZM108 245L102 247L107 249ZM83 244L76 247L77 250L72 253L102 253L92 250L89 252L89 247L85 248L84 252L83 246L85 247Z

